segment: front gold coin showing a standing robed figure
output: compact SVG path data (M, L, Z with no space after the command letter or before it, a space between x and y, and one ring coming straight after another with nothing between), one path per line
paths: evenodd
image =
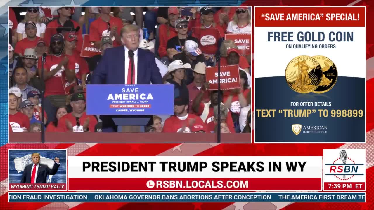
M322 80L322 69L318 61L306 55L292 59L286 68L286 81L298 93L310 93Z

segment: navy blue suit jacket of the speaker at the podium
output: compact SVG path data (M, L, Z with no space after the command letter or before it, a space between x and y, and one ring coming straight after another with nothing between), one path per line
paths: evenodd
M91 84L125 84L125 59L128 58L125 58L123 46L106 49L93 70ZM162 76L154 59L152 52L138 48L137 84L162 84ZM100 119L103 132L116 131L112 116L100 115Z

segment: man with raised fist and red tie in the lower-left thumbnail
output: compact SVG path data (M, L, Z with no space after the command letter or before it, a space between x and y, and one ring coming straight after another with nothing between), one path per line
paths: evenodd
M52 169L41 164L40 154L36 152L31 154L31 160L33 161L33 164L25 167L21 183L47 183L47 175L55 175L60 166L60 159L58 157L55 157L55 164L53 164Z

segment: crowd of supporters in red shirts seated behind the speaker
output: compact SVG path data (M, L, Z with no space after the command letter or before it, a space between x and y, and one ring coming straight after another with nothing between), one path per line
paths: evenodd
M43 120L47 132L101 132L98 116L85 112L86 85L105 50L122 46L121 29L134 24L139 48L154 53L163 83L180 93L175 114L153 116L146 132L251 132L251 55L224 40L251 34L249 8L9 7L9 131L40 132ZM101 53L81 56L85 35ZM207 90L205 67L218 55L221 65L239 65L239 89Z

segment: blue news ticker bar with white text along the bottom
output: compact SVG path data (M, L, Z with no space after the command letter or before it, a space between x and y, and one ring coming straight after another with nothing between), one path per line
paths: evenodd
M9 202L365 202L364 192L9 192Z

